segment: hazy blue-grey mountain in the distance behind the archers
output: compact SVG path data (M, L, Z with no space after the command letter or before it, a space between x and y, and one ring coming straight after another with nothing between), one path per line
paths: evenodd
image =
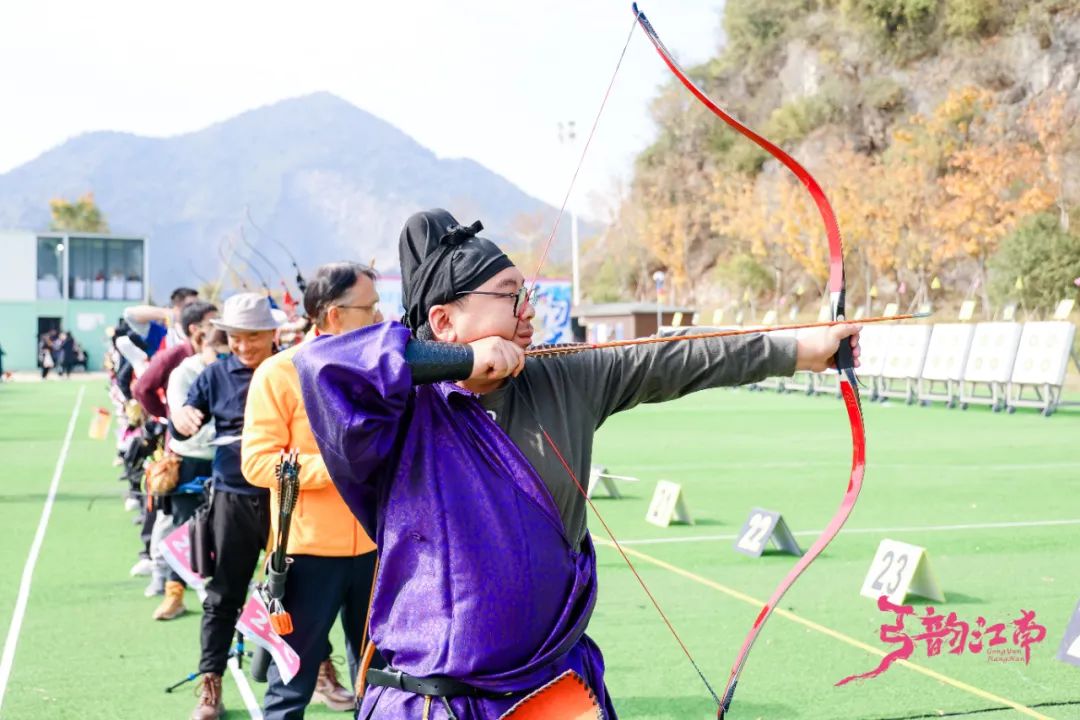
M276 286L292 277L284 241L306 271L335 259L397 267L405 219L446 207L488 236L519 246L521 234L554 219L555 208L467 159L441 159L393 125L328 93L275 103L205 130L167 138L99 132L76 137L0 175L0 228L41 230L49 200L92 191L114 233L150 239L156 299L179 284L217 275L219 246L246 237L234 264ZM564 223L565 230L566 223ZM569 241L556 242L555 260Z

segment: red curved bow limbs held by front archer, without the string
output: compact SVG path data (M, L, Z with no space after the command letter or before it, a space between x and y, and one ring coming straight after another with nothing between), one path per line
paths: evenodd
M715 101L713 101L712 98L710 98L693 83L692 80L687 77L683 68L680 68L678 63L675 62L675 58L672 57L671 53L664 46L664 43L660 40L660 36L657 35L656 29L649 23L648 18L646 18L645 14L640 10L638 10L636 2L633 5L633 12L638 24L642 26L642 29L645 30L646 36L648 36L653 46L656 46L657 52L660 53L660 57L664 60L678 81L681 82L683 85L686 86L686 89L689 90L690 93L706 108L708 108L713 114L718 117L743 136L756 142L769 154L779 160L802 182L807 191L809 191L811 198L813 198L814 204L818 206L818 213L821 215L822 222L825 225L825 233L828 237L828 290L833 320L842 321L845 318L843 300L847 289L843 274L843 245L840 241L840 228L836 222L836 214L833 212L833 207L825 198L825 193L822 191L821 186L818 185L818 181L813 178L813 176L810 175L810 173L794 158L751 128L743 125L741 122L725 112ZM863 424L862 404L859 397L859 384L855 379L854 358L852 357L851 344L848 342L840 343L840 348L836 354L836 369L839 375L843 404L848 410L848 421L851 424L852 453L851 474L848 478L848 489L843 493L843 500L840 502L840 506L833 516L833 519L829 520L825 531L822 532L821 536L819 536L814 544L810 547L810 551L799 559L795 568L781 581L780 585L775 590L773 590L769 600L765 603L765 607L761 608L757 619L754 621L754 624L739 651L739 655L735 657L734 665L731 668L731 675L728 677L728 684L724 691L724 702L717 712L717 717L719 718L723 718L731 706L731 698L734 696L735 684L739 682L739 676L742 674L750 650L753 647L754 641L757 639L757 636L760 634L765 622L772 614L773 609L784 597L787 589L795 583L796 580L798 580L799 575L802 574L802 571L806 570L819 555L821 555L822 551L825 549L828 543L832 542L832 540L840 531L840 528L851 514L851 510L854 507L855 501L859 499L859 491L863 486L863 473L866 467L866 431Z

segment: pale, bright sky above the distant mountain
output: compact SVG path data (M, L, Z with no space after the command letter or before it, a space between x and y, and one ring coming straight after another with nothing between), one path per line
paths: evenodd
M717 51L721 8L642 3L685 64ZM558 123L575 120L583 139L632 22L629 0L5 2L0 172L89 131L175 135L329 91L557 204L576 164ZM579 212L596 214L629 176L667 77L635 32L571 201Z

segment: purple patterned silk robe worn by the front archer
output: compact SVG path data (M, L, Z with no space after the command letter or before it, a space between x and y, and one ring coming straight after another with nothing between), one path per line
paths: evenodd
M395 323L305 343L311 429L335 485L379 547L372 639L409 675L445 675L509 698L458 697L461 720L495 720L567 669L615 720L604 661L585 636L596 557L577 552L543 480L453 383L414 388ZM369 688L360 718L419 718L423 697ZM440 702L431 718L446 717Z

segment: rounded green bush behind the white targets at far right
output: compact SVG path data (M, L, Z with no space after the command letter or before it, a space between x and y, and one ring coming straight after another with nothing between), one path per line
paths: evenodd
M990 297L998 302L1018 300L1037 313L1075 296L1077 277L1080 235L1063 230L1054 213L1027 218L990 258Z

